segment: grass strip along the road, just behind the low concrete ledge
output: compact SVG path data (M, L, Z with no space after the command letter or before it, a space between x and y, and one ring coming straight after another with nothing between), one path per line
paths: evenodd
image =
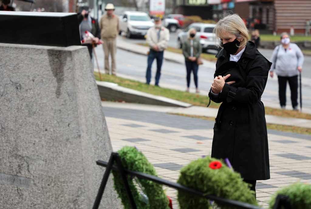
M95 72L94 75L95 75L95 79L99 80L98 73ZM179 100L182 102L187 102L187 103L190 103L190 104L195 105L195 106L206 107L208 102L209 102L209 98L205 95L188 93L188 92L178 91L178 90L174 90L174 89L160 88L157 86L147 85L147 84L144 84L142 82L124 79L124 78L113 76L113 75L102 74L102 79L103 79L103 81L116 83L119 86L123 86L123 87L129 88L129 89L135 89L138 91L151 93L154 95ZM211 101L210 107L218 108L219 106L220 106L220 104ZM292 118L303 118L303 119L311 120L310 114L301 113L301 112L297 112L297 111L274 109L274 108L270 108L270 107L265 107L265 110L266 110L267 115L292 117Z

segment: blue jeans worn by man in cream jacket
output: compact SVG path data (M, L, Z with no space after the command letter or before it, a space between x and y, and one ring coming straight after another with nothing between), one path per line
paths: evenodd
M163 52L156 52L154 50L150 50L150 53L148 55L148 67L147 67L147 72L146 72L146 83L149 84L150 83L150 79L151 79L151 66L152 66L152 62L153 60L156 58L156 66L157 66L157 70L156 70L156 85L159 85L159 80L160 80L160 75L161 75L161 66L162 66L162 62L163 62Z

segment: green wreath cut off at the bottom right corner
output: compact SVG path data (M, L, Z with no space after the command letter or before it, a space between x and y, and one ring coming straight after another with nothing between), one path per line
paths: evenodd
M271 197L270 208L273 208L276 196L278 194L287 195L290 199L291 208L311 209L311 185L304 183L295 183L282 188ZM282 207L283 208L283 207Z

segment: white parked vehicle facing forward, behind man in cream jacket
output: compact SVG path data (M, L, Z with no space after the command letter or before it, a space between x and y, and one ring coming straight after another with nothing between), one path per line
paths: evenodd
M147 30L154 26L147 13L142 11L125 11L119 19L120 32L126 33L127 38L133 35L145 36Z

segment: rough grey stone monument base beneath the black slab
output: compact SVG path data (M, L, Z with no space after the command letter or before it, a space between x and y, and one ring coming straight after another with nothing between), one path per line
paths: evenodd
M91 209L111 151L86 47L1 43L1 209Z

